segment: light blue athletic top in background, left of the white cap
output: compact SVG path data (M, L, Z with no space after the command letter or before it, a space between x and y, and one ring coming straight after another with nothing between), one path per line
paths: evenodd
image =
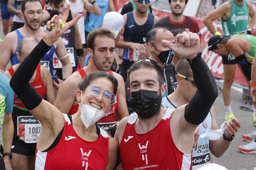
M96 16L87 12L84 22L84 30L88 33L100 27L103 22L104 15L108 12L108 0L97 0L96 3L100 8L101 14L100 16Z

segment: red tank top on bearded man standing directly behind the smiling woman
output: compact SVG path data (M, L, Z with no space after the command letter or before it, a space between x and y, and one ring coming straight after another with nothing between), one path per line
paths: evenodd
M86 73L83 68L77 70L79 74L81 75L82 79L86 76ZM113 75L113 72L111 70L108 71L109 74ZM99 126L100 128L104 130L108 130L109 125L113 125L116 122L116 109L118 106L118 92L116 92L116 100L113 103L112 109L99 121ZM69 115L73 115L77 112L78 110L78 104L75 106L72 106L69 112Z

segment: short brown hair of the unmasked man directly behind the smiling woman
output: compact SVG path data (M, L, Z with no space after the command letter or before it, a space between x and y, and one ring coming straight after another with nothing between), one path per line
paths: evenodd
M107 28L97 28L95 30L93 30L92 32L90 32L87 36L86 42L87 42L87 47L91 48L92 51L94 51L94 46L95 46L95 38L97 36L100 37L108 37L111 38L115 41L115 36L114 34Z

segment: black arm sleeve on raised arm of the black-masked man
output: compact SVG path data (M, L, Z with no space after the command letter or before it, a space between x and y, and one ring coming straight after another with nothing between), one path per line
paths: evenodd
M185 107L184 117L187 122L199 125L208 115L215 99L218 97L218 89L211 70L202 59L198 57L191 63L188 60L197 91Z

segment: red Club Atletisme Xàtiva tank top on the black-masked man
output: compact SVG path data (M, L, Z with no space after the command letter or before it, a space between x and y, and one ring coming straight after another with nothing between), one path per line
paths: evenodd
M192 155L180 152L172 140L171 113L167 109L156 127L145 134L135 131L136 113L130 115L120 143L123 169L192 169Z

